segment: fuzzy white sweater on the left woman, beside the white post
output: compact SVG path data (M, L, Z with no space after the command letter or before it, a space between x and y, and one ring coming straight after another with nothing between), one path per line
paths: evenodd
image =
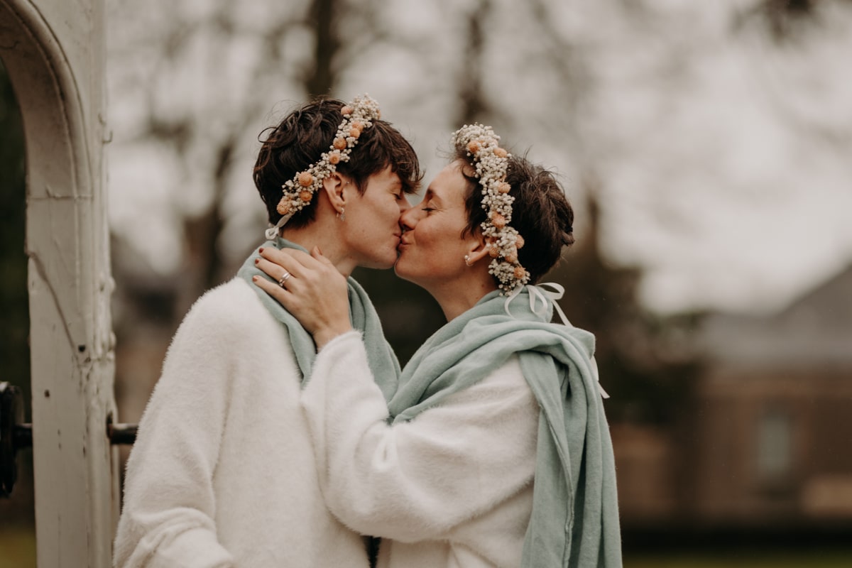
M320 494L300 378L250 284L195 303L130 454L115 565L366 568Z

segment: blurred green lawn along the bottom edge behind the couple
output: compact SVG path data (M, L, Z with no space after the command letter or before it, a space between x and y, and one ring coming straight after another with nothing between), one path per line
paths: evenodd
M849 568L847 550L724 549L626 553L625 568ZM0 568L35 568L36 538L29 527L0 527Z

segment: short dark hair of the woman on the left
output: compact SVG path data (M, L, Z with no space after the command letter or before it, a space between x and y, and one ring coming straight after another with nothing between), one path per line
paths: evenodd
M278 203L281 186L328 152L337 128L343 122L343 100L319 98L290 112L277 126L263 129L258 136L260 152L254 168L254 181L266 204L269 222L276 224L281 214ZM337 171L351 177L363 193L371 175L390 166L400 176L402 191L415 193L423 174L412 145L389 122L374 120L360 135L348 162L337 164ZM314 221L317 199L293 215L288 225L303 227Z

